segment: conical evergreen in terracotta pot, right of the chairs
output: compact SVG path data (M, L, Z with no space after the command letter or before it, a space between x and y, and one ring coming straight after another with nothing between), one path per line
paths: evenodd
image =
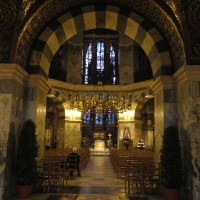
M182 173L179 133L177 127L171 125L164 130L160 156L160 177L167 200L178 200Z

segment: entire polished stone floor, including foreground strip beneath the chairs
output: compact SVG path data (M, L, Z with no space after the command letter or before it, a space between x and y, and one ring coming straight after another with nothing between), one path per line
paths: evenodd
M9 200L16 200L14 197ZM130 195L124 180L114 172L108 155L91 155L81 177L67 180L62 192L50 188L49 193L37 191L29 200L163 200L162 195Z

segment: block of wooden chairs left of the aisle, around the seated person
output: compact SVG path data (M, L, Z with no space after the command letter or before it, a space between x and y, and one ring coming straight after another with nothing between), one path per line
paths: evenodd
M57 191L61 191L70 177L70 172L74 171L74 177L77 175L76 161L74 165L67 163L67 157L72 149L54 149L45 152L43 158L37 161L37 187L42 186L44 192L49 192L52 185L57 186ZM89 149L78 149L80 156L80 170L83 170L89 160Z

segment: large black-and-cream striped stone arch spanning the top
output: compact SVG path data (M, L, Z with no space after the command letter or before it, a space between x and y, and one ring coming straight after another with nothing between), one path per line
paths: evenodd
M51 60L59 47L74 35L96 28L117 30L135 40L149 58L154 79L161 74L173 73L167 42L155 25L116 6L84 6L54 20L35 43L29 72L48 78Z

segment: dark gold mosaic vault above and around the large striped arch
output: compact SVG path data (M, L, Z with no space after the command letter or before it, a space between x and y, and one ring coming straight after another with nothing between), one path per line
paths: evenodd
M151 19L167 39L176 69L200 63L200 0L0 0L0 62L26 68L34 41L53 19L92 4L123 7Z

